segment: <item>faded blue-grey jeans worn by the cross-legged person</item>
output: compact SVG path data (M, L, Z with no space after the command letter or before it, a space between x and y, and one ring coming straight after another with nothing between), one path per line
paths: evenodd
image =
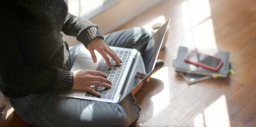
M143 28L130 28L104 35L109 46L138 49L148 39ZM80 45L70 47L72 66ZM58 92L10 98L17 114L36 126L129 126L139 118L140 107L130 94L119 104L60 97Z

